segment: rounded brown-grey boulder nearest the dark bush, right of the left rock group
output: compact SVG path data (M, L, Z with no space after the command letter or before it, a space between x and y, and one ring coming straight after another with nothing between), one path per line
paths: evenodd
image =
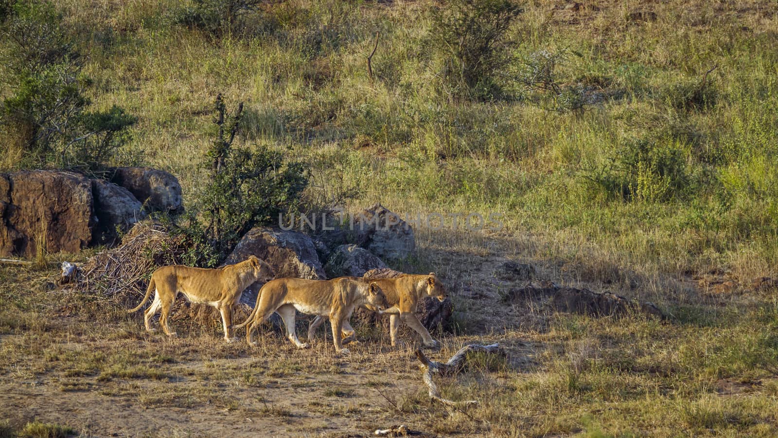
M178 178L152 168L113 168L110 182L128 189L148 210L184 211Z

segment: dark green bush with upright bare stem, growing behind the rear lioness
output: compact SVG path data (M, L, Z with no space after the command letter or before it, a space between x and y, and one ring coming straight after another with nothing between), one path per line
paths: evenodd
M303 165L284 162L282 154L266 147L258 150L234 147L243 104L226 111L222 95L216 97L216 134L205 153L208 183L198 199L191 224L199 247L199 260L215 266L233 249L238 239L258 224L270 224L279 213L299 203L308 177Z

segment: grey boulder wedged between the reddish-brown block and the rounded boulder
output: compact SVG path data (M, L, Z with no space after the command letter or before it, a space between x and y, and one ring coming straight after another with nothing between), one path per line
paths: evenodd
M100 241L103 243L114 243L117 238L117 228L127 231L145 217L140 201L132 196L128 189L112 182L93 179L92 196L100 230Z

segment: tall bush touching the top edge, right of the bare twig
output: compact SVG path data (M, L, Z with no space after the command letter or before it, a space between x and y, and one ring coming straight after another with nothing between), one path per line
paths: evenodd
M510 0L451 0L433 11L433 47L445 58L442 76L454 94L500 94L497 73L510 62L506 34L520 12Z

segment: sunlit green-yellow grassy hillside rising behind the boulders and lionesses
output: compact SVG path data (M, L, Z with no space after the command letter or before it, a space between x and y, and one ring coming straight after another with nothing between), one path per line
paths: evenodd
M139 119L116 160L171 171L190 196L223 93L246 104L241 142L303 157L327 196L497 211L548 256L649 273L750 278L778 261L774 2L527 2L502 85L562 54L559 83L591 102L562 114L447 94L435 2L268 2L218 35L179 24L192 2L56 4L93 100Z

